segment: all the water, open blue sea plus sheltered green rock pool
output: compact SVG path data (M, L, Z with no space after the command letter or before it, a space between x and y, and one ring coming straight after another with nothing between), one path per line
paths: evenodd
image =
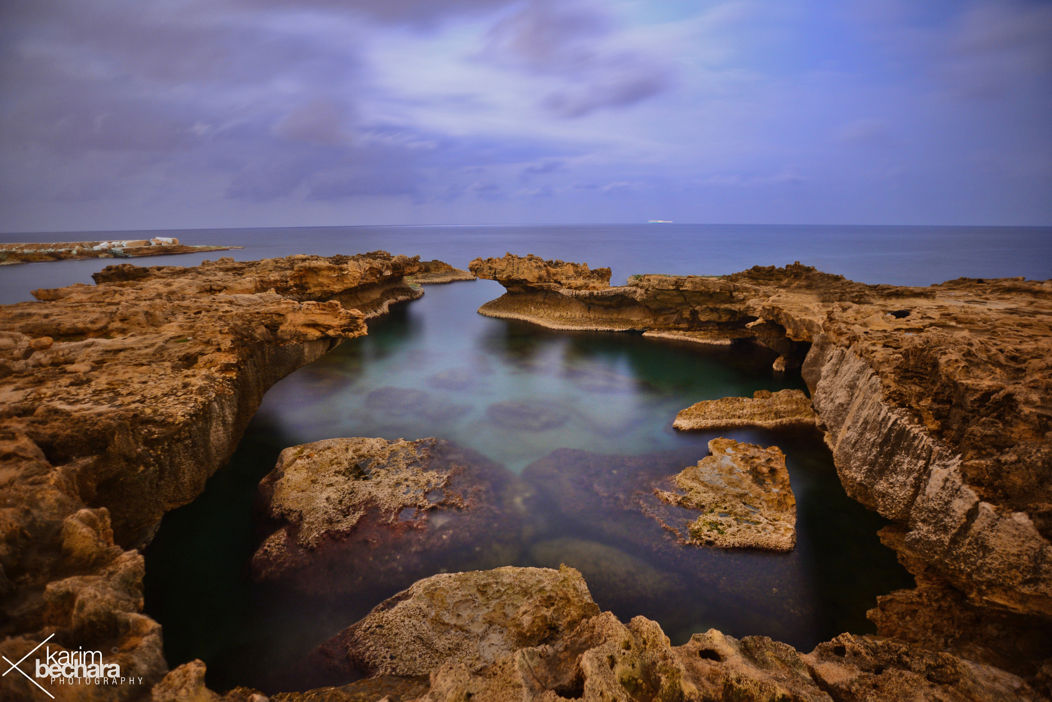
M132 263L384 249L464 268L478 256L535 254L609 266L613 284L632 274L720 275L794 261L867 283L1052 278L1050 227L361 226L2 235L0 241L145 236L244 248ZM4 266L0 301L31 300L37 287L90 283L92 273L116 262L122 261ZM427 554L406 568L404 581L338 596L254 582L248 564L266 533L256 506L259 481L283 448L330 438L437 437L495 462L519 485L526 516L513 534L480 538L480 567L576 567L601 607L623 621L638 615L658 621L673 644L714 627L807 651L843 631L875 630L866 610L876 597L912 586L877 537L887 522L845 494L816 429L671 428L675 414L700 400L806 390L798 372L772 370L772 352L557 332L478 314L503 292L484 280L427 285L423 298L371 320L367 336L269 390L229 463L194 502L164 517L145 549L145 611L164 627L169 665L205 661L208 684L219 690L246 685L272 694L349 682L353 676L325 669L311 651L417 578L464 562ZM546 419L509 425L492 410L507 403ZM797 504L791 553L680 546L671 558L669 537L655 522L605 514L587 490L565 487L596 469L658 480L704 458L719 436L785 453Z

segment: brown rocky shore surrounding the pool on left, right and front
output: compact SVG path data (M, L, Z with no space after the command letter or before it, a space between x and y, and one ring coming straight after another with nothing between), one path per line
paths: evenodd
M842 482L894 522L882 539L917 587L879 599L869 615L878 636L800 654L715 630L670 646L654 622L600 613L571 568L434 576L327 646L372 677L271 700L1052 695L1052 281L864 285L793 264L610 287L609 269L511 255L470 270L508 290L482 314L751 341L778 353L776 370L801 366ZM124 264L95 286L0 308L0 651L17 661L54 634L115 651L107 660L142 681L65 699L219 700L200 662L166 670L160 626L141 614L136 547L223 465L269 385L419 297L408 277L421 272L419 259L383 252ZM517 594L505 601L509 578ZM420 659L419 642L398 635L403 614L434 631L452 625L459 653L388 665ZM377 622L394 631L378 639ZM480 636L490 630L515 634ZM13 676L0 685L13 699L38 694ZM238 688L223 699L265 698Z

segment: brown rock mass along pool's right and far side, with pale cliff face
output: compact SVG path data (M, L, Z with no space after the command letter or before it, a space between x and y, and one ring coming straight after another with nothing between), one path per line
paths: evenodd
M842 482L897 524L886 542L924 580L882 598L871 614L881 631L1010 661L1049 684L1052 281L866 285L797 263L582 290L524 283L522 260L472 262L480 277L509 283L480 313L753 339L781 354L776 369L806 353L802 372Z

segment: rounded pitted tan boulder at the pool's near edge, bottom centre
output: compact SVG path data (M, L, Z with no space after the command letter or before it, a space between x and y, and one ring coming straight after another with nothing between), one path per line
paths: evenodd
M369 674L478 670L517 648L555 642L598 614L570 567L440 574L377 605L321 650L337 667Z

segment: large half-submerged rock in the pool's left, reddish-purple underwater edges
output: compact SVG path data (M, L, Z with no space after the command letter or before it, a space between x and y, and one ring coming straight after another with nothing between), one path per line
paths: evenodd
M281 453L260 483L279 527L252 557L257 580L312 595L405 587L446 567L513 557L514 476L449 441L327 439ZM484 544L485 549L476 548Z

